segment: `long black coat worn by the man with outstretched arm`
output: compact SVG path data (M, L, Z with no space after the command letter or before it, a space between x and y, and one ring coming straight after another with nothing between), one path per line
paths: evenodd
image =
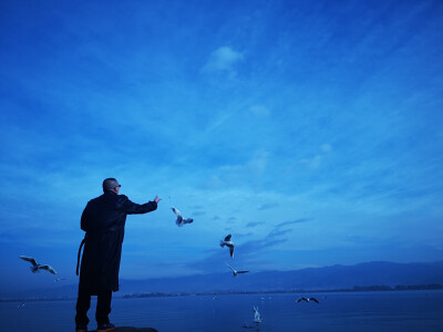
M81 228L86 235L79 288L95 295L119 290L126 215L146 214L155 209L155 201L140 205L113 191L106 191L87 203L81 219Z

